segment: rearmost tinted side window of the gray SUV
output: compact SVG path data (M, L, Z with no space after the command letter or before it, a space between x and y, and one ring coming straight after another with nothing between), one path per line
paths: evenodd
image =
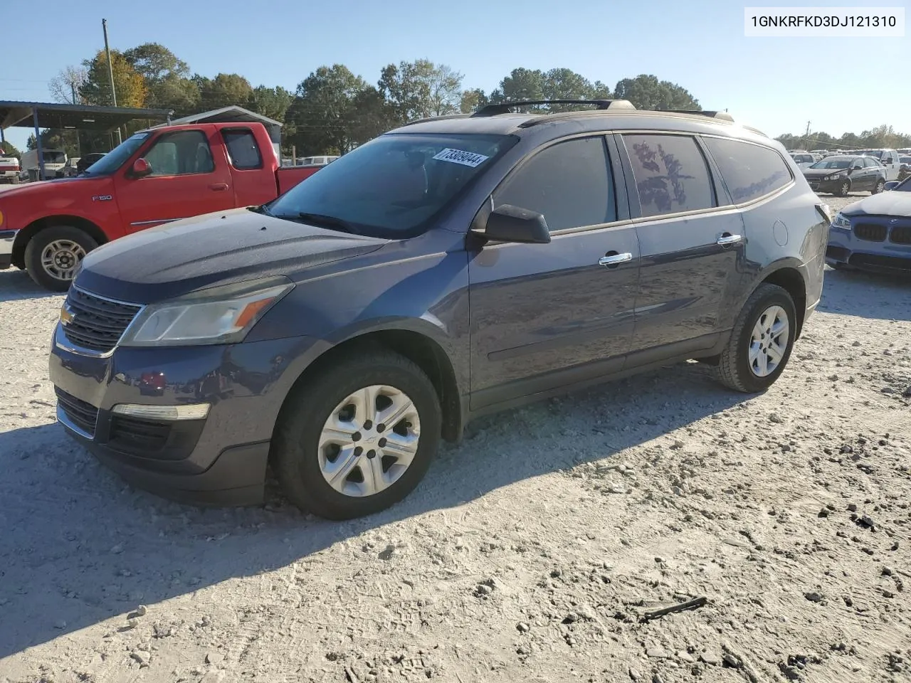
M703 138L735 204L752 201L791 182L791 171L774 149L728 138Z

